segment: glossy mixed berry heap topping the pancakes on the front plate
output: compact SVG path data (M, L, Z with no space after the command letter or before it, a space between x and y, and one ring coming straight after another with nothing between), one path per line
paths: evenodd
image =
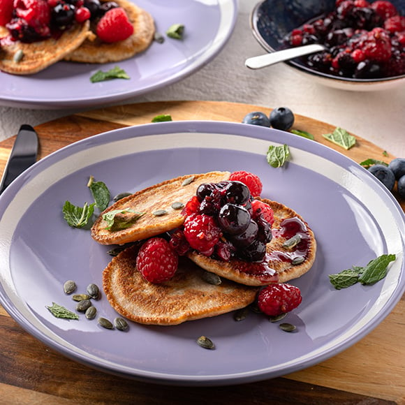
M252 200L249 187L240 181L201 184L184 207L184 226L172 233L170 244L180 255L194 249L219 260L263 263L272 240L267 219L273 216L267 205L267 210L253 209Z

